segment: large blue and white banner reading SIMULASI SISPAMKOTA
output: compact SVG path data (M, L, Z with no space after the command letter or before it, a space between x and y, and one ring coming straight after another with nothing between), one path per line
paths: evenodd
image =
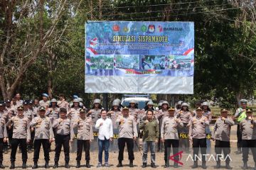
M193 94L193 22L85 23L85 93Z

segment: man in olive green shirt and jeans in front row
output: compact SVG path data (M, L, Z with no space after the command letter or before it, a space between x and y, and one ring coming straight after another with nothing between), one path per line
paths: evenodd
M151 153L151 167L156 168L156 154L155 143L158 142L159 138L159 124L156 119L153 119L153 111L146 111L146 120L142 122L139 129L143 131L143 157L142 157L142 168L146 168L147 152L150 147Z

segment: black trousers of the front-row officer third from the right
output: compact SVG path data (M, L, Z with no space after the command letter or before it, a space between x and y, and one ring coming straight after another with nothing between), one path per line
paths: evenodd
M193 138L193 159L194 159L194 161L198 161L199 147L201 149L202 162L206 162L206 138L203 138L203 139Z

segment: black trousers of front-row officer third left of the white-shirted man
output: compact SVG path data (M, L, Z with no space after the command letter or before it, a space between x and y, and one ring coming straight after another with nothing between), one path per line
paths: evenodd
M49 156L50 142L49 142L49 140L44 140L44 139L35 140L33 143L34 143L33 162L38 162L41 145L43 145L43 154L44 154L45 160L46 160L46 162L49 162L49 160L50 160L50 156Z

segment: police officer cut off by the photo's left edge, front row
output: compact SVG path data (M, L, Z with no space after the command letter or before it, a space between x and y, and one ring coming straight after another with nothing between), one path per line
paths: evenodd
M0 169L4 169L3 150L5 142L7 142L6 120L4 118L0 118Z

